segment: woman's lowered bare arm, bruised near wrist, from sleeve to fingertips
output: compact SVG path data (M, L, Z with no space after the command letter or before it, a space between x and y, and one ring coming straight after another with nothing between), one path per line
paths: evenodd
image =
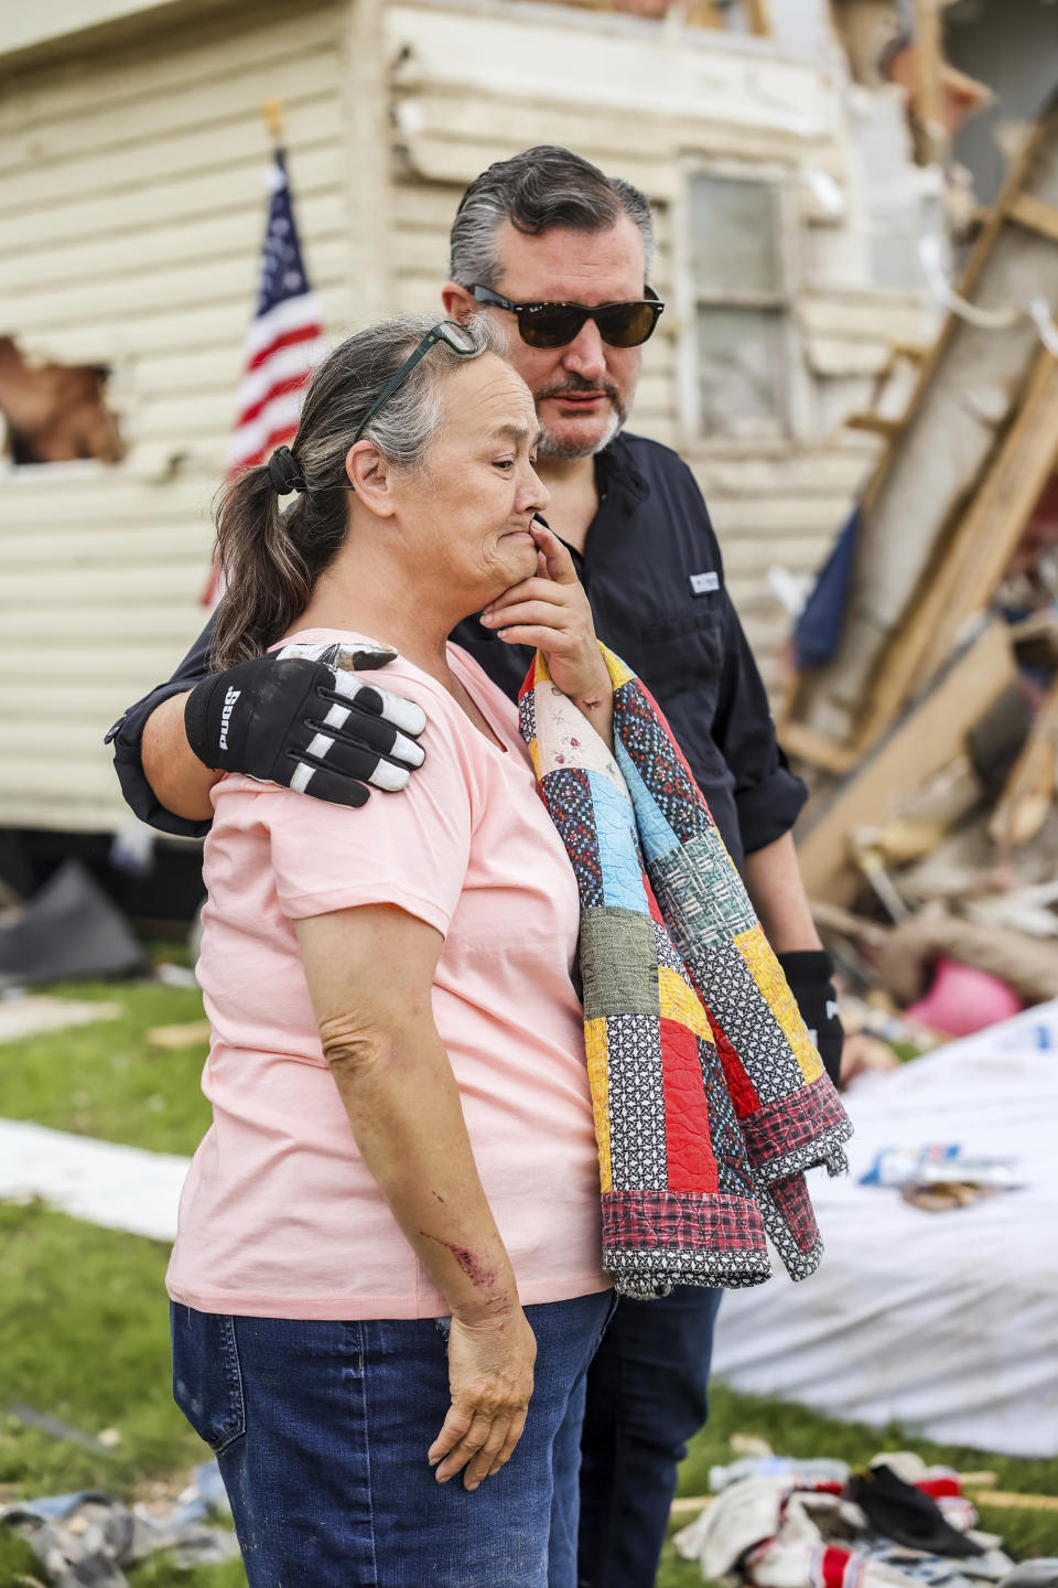
M473 1490L522 1436L536 1340L433 1023L444 939L398 905L357 905L293 927L360 1154L452 1312L452 1404L428 1458L439 1483L465 1469ZM357 1235L351 1228L351 1262Z

